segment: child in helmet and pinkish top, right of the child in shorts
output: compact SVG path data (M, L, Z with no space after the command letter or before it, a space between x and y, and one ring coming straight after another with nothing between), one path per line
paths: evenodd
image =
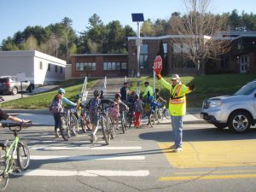
M123 113L123 110L120 109L128 110L129 108L121 101L121 94L117 93L114 96L112 108L109 108L110 119L112 120L113 127L117 130L119 129L119 112L121 111L121 113Z

